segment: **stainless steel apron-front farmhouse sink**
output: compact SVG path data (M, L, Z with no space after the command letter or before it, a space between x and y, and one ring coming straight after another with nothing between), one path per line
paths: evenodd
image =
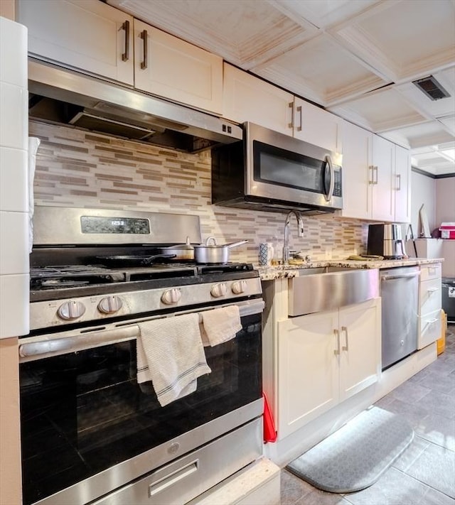
M332 310L379 296L377 268L302 268L288 281L291 316Z

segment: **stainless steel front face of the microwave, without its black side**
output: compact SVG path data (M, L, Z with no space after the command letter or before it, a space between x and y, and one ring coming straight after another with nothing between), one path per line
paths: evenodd
M341 155L255 124L246 135L248 195L343 208Z

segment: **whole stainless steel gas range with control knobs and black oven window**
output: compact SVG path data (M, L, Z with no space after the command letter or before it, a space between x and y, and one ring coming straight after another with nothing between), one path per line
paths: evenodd
M33 224L31 332L18 349L23 503L181 505L255 461L264 303L252 265L102 264L200 243L196 216L36 207ZM203 347L210 373L161 406L137 381L142 325L234 305L241 330Z

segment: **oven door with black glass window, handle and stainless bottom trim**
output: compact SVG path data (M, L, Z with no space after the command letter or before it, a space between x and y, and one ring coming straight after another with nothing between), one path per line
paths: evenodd
M264 303L237 305L242 330L165 407L137 384L139 320L21 339L23 503L88 503L260 416Z

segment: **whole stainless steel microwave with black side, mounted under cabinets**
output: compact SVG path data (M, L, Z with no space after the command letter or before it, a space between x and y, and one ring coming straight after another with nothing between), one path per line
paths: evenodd
M343 208L341 154L243 125L243 140L212 149L212 203L321 214Z

